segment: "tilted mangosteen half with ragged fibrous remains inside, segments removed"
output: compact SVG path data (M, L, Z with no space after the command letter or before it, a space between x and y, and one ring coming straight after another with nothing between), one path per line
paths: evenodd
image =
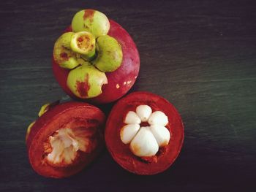
M26 134L32 168L54 178L80 172L102 150L104 125L104 113L90 104L70 101L44 105Z

